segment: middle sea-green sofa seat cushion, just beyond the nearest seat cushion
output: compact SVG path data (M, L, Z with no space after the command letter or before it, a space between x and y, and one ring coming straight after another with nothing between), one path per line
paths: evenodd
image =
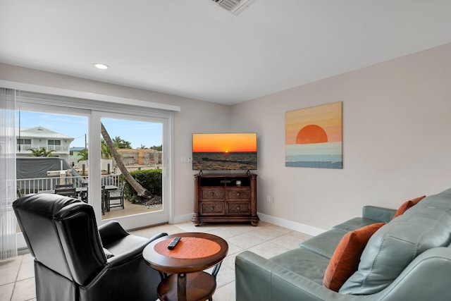
M335 251L335 247L337 247L338 242L340 242L345 234L346 232L343 231L329 230L320 235L316 235L314 238L301 242L299 247L330 259Z

